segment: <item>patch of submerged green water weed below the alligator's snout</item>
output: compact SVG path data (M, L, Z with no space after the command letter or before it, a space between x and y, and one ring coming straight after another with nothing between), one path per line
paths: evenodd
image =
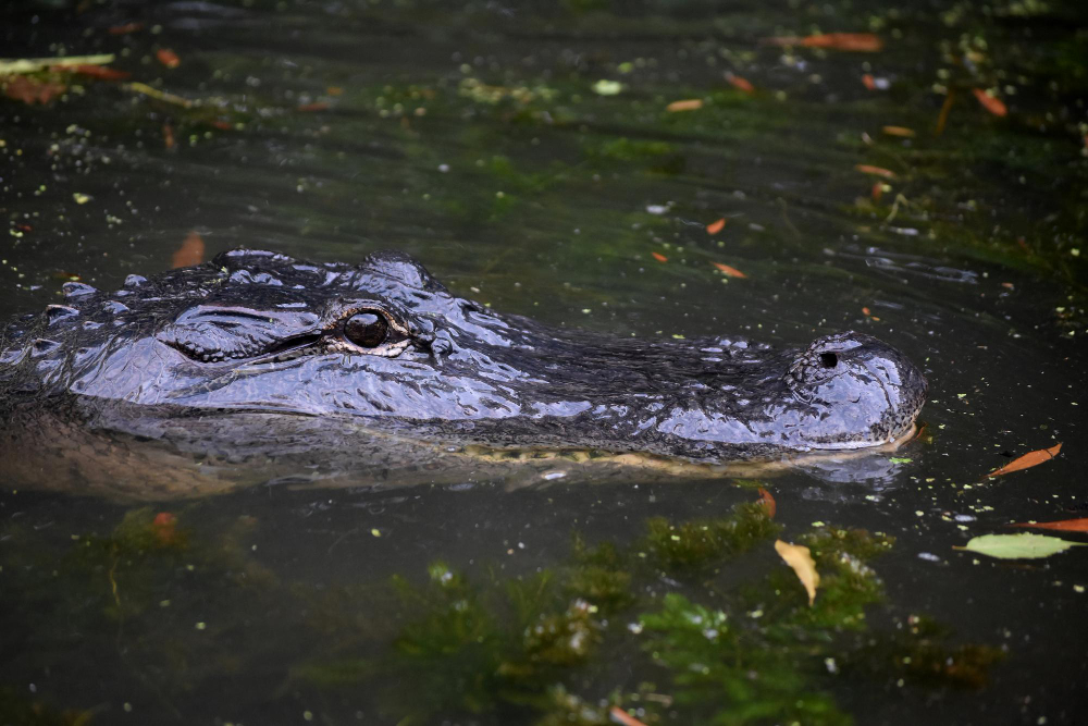
M480 580L441 562L422 583L398 576L392 587L403 625L381 655L311 661L294 677L341 691L368 684L383 712L403 723L519 714L539 724L603 724L616 706L654 723L668 703L700 723L838 725L852 717L837 703L836 674L875 653L917 664L918 675L935 676L928 687L985 677L992 663L986 647L950 649L948 633L919 644L869 628L866 610L883 590L868 563L893 547L891 538L834 527L801 538L823 578L809 607L780 566L747 568L735 587L701 595L646 587L654 573L683 580L739 563L761 543L769 547L780 528L757 504L645 527L646 536L626 546L590 546L576 536L568 564L533 576L491 570ZM868 644L849 632L866 633ZM940 672L945 653L962 667ZM616 659L642 680L609 677ZM416 685L410 692L399 687L406 679Z

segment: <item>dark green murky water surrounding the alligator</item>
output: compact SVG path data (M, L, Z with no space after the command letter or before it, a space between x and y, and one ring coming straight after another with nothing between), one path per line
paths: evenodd
M399 247L554 324L789 345L863 330L930 393L900 452L763 480L774 522L732 479L149 507L2 482L0 723L1083 721L1088 551L953 549L1088 516L1078 3L2 13L4 58L113 53L132 74L0 97L4 317L71 275L166 269L194 231L206 257ZM882 48L761 42L833 32ZM813 607L776 538L813 550Z

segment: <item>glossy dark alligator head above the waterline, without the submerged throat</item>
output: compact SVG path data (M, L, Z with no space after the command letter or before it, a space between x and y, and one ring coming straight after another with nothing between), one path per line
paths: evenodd
M9 387L700 460L891 442L926 392L869 335L775 349L552 329L452 295L397 251L348 266L235 250L66 294L9 327Z

